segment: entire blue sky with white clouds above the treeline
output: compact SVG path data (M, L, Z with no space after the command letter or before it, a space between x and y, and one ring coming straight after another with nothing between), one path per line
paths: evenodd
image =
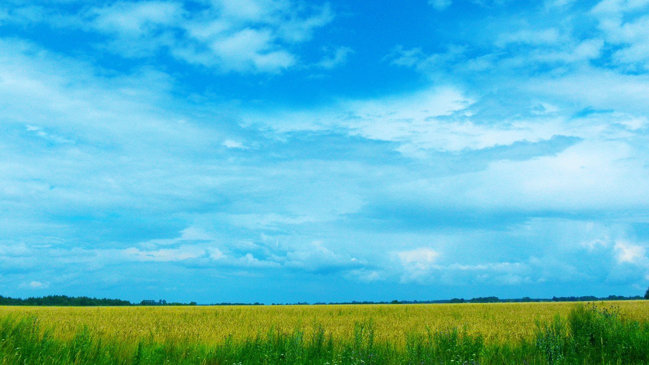
M643 295L648 118L648 0L3 0L0 294Z

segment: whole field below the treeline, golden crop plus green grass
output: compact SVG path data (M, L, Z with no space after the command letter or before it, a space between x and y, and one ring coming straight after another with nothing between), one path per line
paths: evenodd
M0 307L0 318L4 363L625 364L649 352L649 301Z

